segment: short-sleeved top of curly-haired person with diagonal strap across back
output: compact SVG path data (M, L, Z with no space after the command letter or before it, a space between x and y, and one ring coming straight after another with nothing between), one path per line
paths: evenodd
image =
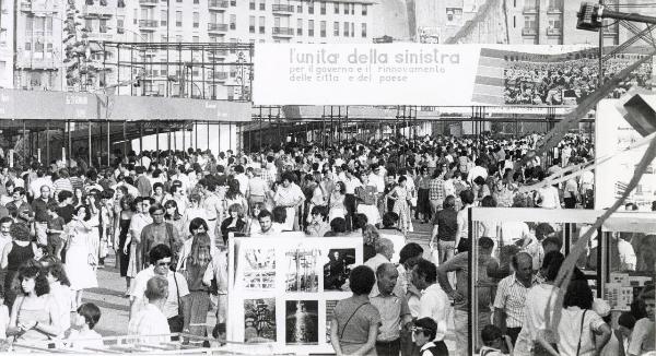
M363 305L353 297L337 302L333 318L337 320L337 335L344 354L351 354L366 344L371 325L380 324L378 309L368 301Z

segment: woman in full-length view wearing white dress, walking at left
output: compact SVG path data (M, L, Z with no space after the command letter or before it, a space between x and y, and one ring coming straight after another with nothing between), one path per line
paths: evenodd
M86 288L98 286L95 269L97 256L95 253L92 230L93 226L90 210L78 206L73 219L69 225L68 248L66 251L66 273L71 282L71 289L75 292L77 306L82 304L82 292Z

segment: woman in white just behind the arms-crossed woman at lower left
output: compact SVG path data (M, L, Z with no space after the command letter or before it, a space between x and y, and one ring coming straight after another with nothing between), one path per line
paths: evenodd
M50 286L50 297L59 309L59 325L65 332L71 327L71 312L75 312L75 297L71 290L71 282L66 275L66 269L60 262L48 264L45 268L46 278Z

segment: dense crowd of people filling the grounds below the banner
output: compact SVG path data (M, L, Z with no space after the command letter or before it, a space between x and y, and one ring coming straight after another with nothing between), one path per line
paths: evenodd
M480 141L394 138L342 142L327 150L292 144L216 156L191 149L132 152L110 167L89 167L83 159L5 167L0 174L5 305L0 335L5 331L7 337L22 342L59 339L70 345L99 340L93 331L99 310L82 297L84 289L98 286L96 271L114 250L130 301L128 334L144 342L166 341L176 332L204 336L208 311L214 309L213 336L221 340L227 241L291 232L363 239L364 265L353 266L347 283L333 283L353 293L338 302L331 320L338 355L447 355L449 316L456 354L466 355L471 244L480 247L481 333L476 347L481 353L514 347L515 355L529 355L543 347L558 355L558 347L572 355L574 347L591 355L616 347L618 343L607 345L613 333L604 319L606 305L593 302L587 283L576 282L581 274L565 304L558 306L567 333L553 340L540 333L540 311L564 259L562 228L480 223L482 237L469 241L470 206L591 209L591 173L520 191L594 157L589 140L570 134L549 162L536 156L523 164L539 140L539 134ZM409 242L393 264L391 236L407 236L418 224L432 225L425 242L435 253ZM633 332L624 331L619 340L623 345L631 334L629 355L654 347L653 289L636 300L644 301L645 312L624 318L635 325L624 323ZM582 318L589 328L573 333ZM636 336L644 328L652 328L651 339ZM620 348L607 355L619 355Z

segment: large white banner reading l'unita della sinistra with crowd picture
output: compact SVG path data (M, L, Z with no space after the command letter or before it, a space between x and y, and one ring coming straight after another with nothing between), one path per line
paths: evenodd
M645 56L605 61L607 75ZM597 86L597 49L586 46L257 44L255 105L574 107ZM613 97L652 85L652 62Z

